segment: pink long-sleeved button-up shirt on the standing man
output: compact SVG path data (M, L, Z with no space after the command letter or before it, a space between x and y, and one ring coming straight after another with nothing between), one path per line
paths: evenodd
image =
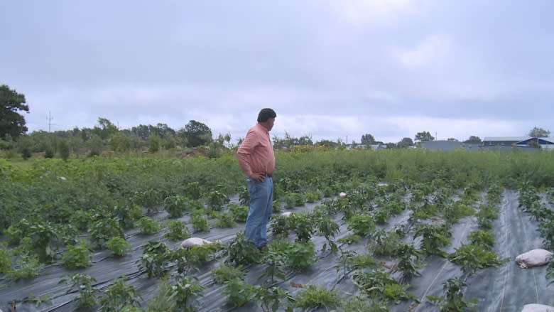
M252 173L273 173L275 154L266 127L255 124L248 130L237 151L237 158L246 176Z

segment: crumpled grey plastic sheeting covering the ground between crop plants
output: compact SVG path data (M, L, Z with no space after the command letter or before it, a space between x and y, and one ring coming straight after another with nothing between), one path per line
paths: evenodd
M232 199L237 201L237 198ZM293 212L300 213L303 210L310 210L315 204L307 204L302 208L294 208ZM398 215L382 226L386 230L392 230L398 224L408 222L410 212ZM165 217L164 213L160 217ZM335 216L335 221L340 224L340 233L335 237L338 240L347 237L349 231L347 225L341 220L342 215ZM188 217L180 218L188 222ZM554 283L548 286L545 279L546 267L533 267L530 269L521 269L514 261L518 254L527 252L531 249L542 247L542 237L538 232L538 222L531 220L531 217L523 213L518 208L517 193L514 190L505 190L501 202L501 210L498 220L494 221L494 235L496 237L495 252L499 257L509 257L510 261L498 268L487 268L477 271L472 276L467 277L467 289L465 298L477 298L479 300L477 311L521 311L523 306L528 303L541 303L552 305L554 303ZM206 240L222 240L227 243L234 240L237 232L244 230L244 224L239 223L237 227L231 229L212 228L210 232L198 232L192 236L202 237ZM268 228L269 230L269 228ZM477 220L475 217L467 217L452 227L451 244L445 250L454 252L455 248L460 247L462 243L467 243L469 232L477 230ZM17 311L75 311L75 303L72 301L77 296L76 291L66 294L69 286L67 284L58 284L61 277L76 272L90 274L97 279L97 288L104 289L114 279L119 276L126 276L126 283L135 287L143 298L142 306L148 305L148 300L156 296L159 279L148 279L146 274L139 271L136 260L143 253L143 244L149 240L166 242L169 248L178 248L180 242L168 242L163 238L163 231L157 235L138 235L136 231L126 233L128 241L134 246L132 252L125 257L116 258L110 255L109 251L97 252L93 256L94 264L87 269L67 270L58 265L50 265L45 268L45 273L36 279L23 281L2 281L5 287L0 291L0 308L4 311L9 310L9 303L13 300L18 301ZM407 236L408 240L411 237ZM271 239L271 235L270 235ZM289 237L293 239L293 237ZM340 256L340 252L331 253L322 252L322 245L326 242L324 237L315 236L312 241L315 243L317 251L317 262L307 271L295 273L289 271L284 281L277 281L274 285L280 286L291 294L298 294L302 288L296 285L313 284L315 286L323 285L327 289L334 289L342 296L357 294L357 288L352 282L352 274L344 276L342 270L337 271L335 264ZM367 240L361 240L354 244L341 244L344 250L353 250L357 254L366 253ZM417 241L414 241L417 246ZM384 259L393 263L393 259ZM224 286L214 283L211 270L219 265L218 260L214 260L199 267L200 271L195 274L200 284L205 286L202 292L203 296L197 298L198 311L261 311L255 303L247 303L240 308L233 308L227 304L227 298L222 295ZM263 285L266 280L259 279L264 272L263 264L251 264L244 268L247 272L246 281L250 284ZM414 301L404 301L398 305L390 304L391 311L439 311L437 306L429 303L425 296L442 296L442 283L452 277L463 276L463 272L456 264L452 264L447 259L440 257L427 257L425 267L420 269L421 276L416 276L410 281L411 288L408 289L421 303ZM293 284L291 284L293 282ZM51 303L43 303L40 306L34 306L33 303L21 303L21 299L35 294L42 296L50 294Z

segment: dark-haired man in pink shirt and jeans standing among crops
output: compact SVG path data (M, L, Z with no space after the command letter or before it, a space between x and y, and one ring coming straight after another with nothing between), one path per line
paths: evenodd
M262 250L267 245L267 223L273 205L273 170L275 154L269 139L277 114L264 108L258 114L258 123L246 133L237 151L242 172L250 195L250 211L246 218L246 240L254 242Z

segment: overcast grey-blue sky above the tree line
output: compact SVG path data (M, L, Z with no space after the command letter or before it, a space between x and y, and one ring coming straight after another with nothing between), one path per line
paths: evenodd
M30 131L190 120L232 141L554 131L554 1L1 1ZM552 134L551 134L552 136Z

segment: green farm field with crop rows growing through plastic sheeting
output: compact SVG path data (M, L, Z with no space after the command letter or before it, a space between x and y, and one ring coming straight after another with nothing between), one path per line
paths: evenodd
M554 154L277 152L270 244L234 156L0 159L10 311L521 311L554 306ZM345 195L341 196L340 193ZM290 212L290 217L281 213ZM219 244L180 249L187 237Z

